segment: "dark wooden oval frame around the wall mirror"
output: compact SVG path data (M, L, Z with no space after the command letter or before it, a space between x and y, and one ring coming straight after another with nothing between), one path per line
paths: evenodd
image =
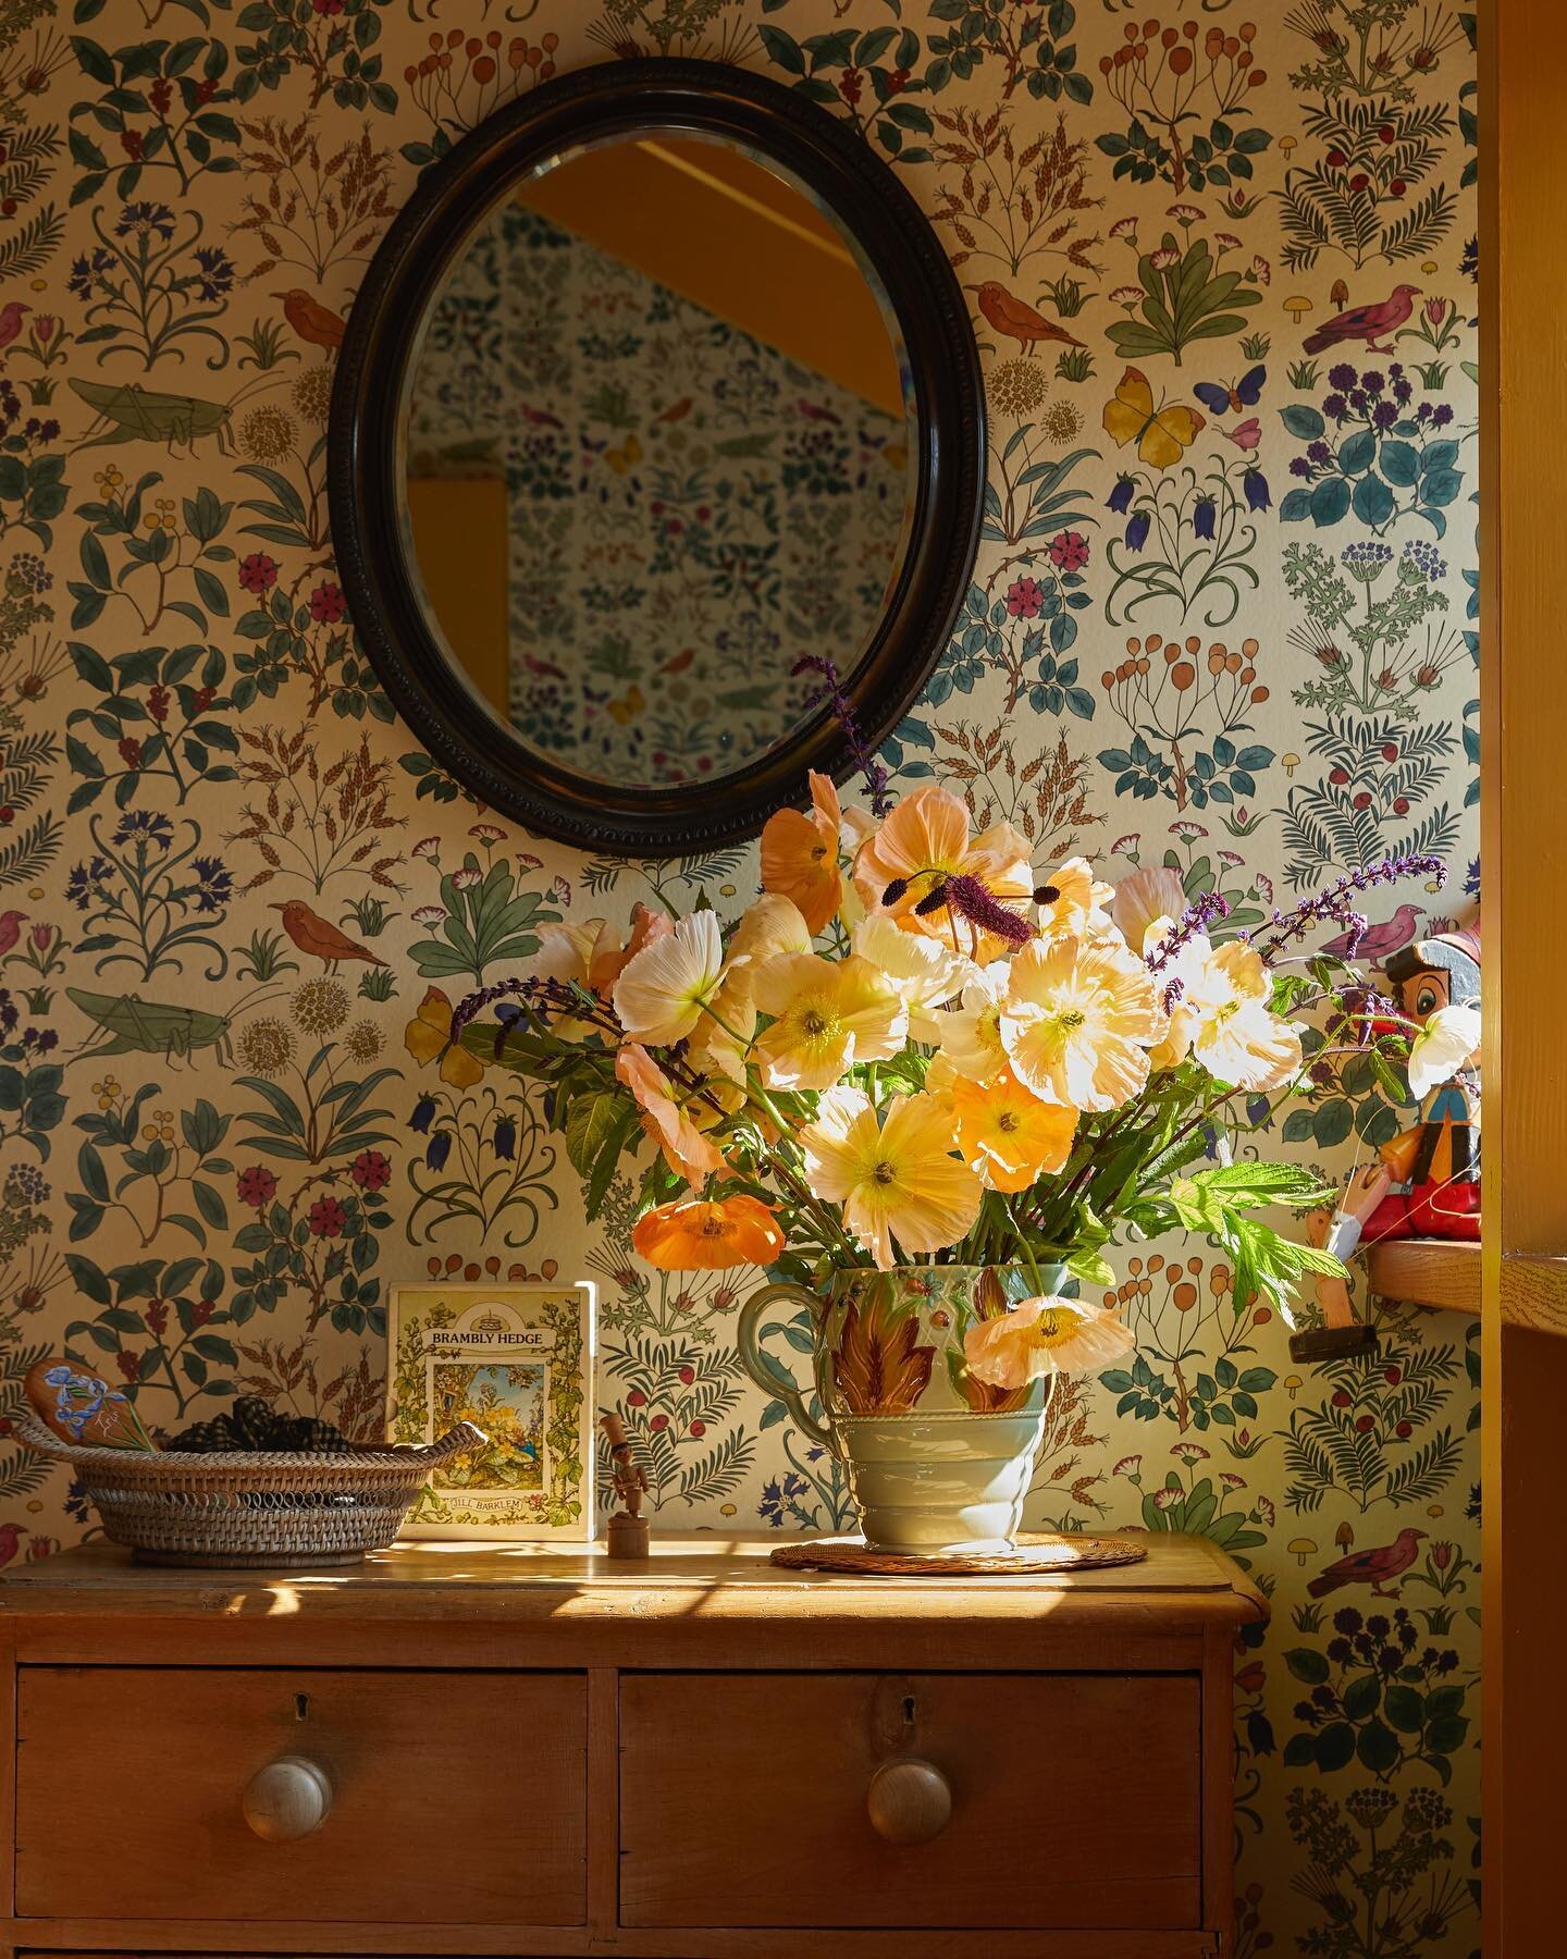
M617 789L525 746L474 703L425 623L404 543L396 411L419 323L470 225L548 157L637 129L729 137L782 165L856 239L897 315L917 411L913 511L897 584L844 684L872 748L917 699L962 607L985 427L968 308L928 219L864 137L778 82L709 61L584 69L507 104L425 170L358 288L333 386L331 535L351 617L413 733L492 809L582 848L664 858L754 836L776 809L809 801L809 770L852 768L844 731L821 709L744 772L648 789Z

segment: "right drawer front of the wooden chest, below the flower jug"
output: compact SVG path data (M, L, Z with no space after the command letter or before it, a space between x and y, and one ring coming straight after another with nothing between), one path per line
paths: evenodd
M1195 1928L1201 1767L1195 1675L625 1675L621 1922Z

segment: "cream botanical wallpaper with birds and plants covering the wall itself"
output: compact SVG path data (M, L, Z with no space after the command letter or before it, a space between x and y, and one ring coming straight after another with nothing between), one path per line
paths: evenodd
M1453 878L1389 899L1383 952L1477 899L1473 14L0 0L10 1414L65 1348L165 1428L241 1387L370 1434L390 1285L588 1273L654 1528L844 1522L740 1379L744 1285L641 1267L629 1197L590 1234L519 1079L451 1087L405 1032L545 923L738 905L754 854L611 862L476 807L378 692L327 531L341 321L419 172L631 55L844 118L972 288L983 543L899 782L1240 925L1389 848ZM1399 1121L1352 1062L1283 1140L1344 1173ZM1205 1532L1271 1595L1242 1959L1471 1953L1475 1326L1383 1307L1375 1363L1293 1365L1203 1244L1115 1258L1140 1350L1060 1399L1034 1522ZM14 1444L0 1495L0 1559L90 1528ZM1383 1581L1324 1577L1350 1548Z

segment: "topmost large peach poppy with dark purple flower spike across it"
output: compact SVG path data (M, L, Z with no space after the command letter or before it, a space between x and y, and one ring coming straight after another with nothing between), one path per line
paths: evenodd
M960 921L948 905L921 911L952 878L975 880L1019 917L1034 893L1028 840L1011 823L995 823L970 838L968 807L950 789L905 795L854 858L854 887L868 913L885 911L905 932L962 944L975 960L1005 952L1005 938Z

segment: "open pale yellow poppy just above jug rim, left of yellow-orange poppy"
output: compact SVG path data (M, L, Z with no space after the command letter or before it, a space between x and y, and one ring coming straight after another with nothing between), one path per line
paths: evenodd
M899 1250L946 1250L979 1215L979 1179L952 1156L952 1111L932 1095L893 1095L878 1123L860 1089L829 1089L799 1144L805 1181L844 1207L844 1224L881 1271Z

